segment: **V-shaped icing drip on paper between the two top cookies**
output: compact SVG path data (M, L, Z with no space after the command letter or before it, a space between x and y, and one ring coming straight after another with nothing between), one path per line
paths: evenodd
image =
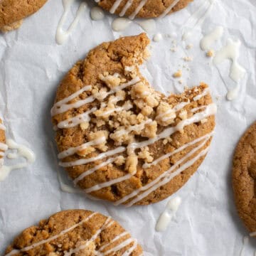
M61 16L60 21L58 23L57 27L57 33L56 33L56 42L58 44L63 44L70 36L70 33L73 32L75 27L78 25L78 21L80 19L80 16L82 16L83 11L87 7L87 4L85 2L82 2L78 8L77 14L75 16L75 19L73 23L71 23L70 27L67 31L63 31L63 25L66 21L66 18L68 16L68 12L70 11L70 8L75 0L63 0L63 7L64 7L64 13L63 16Z

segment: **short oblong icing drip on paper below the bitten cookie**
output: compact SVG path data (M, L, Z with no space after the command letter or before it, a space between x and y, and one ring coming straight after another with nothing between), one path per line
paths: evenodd
M158 232L164 232L167 228L169 223L171 222L171 219L176 214L178 207L181 205L181 198L176 197L172 198L166 206L166 210L164 210L163 213L161 213L159 219L156 223L156 231Z

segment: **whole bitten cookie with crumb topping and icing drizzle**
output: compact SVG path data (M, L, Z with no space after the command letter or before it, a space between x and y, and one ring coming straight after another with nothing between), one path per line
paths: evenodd
M166 97L143 78L148 45L142 33L91 50L51 110L60 166L85 193L115 204L156 203L181 188L215 127L206 84Z

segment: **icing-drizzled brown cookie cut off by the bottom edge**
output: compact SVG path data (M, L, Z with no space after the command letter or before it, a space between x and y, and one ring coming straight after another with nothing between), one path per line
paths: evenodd
M142 247L119 223L89 210L64 210L24 230L5 255L142 255Z

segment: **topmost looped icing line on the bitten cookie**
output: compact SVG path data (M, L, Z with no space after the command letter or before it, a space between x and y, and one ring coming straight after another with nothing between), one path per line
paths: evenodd
M110 90L109 92L105 92L105 97L107 97L108 95L112 95L113 93L118 92L120 90L124 90L124 88L128 86L136 84L137 82L139 82L139 80L140 80L139 77L136 77L129 82L126 82L122 85L114 87L114 89ZM95 101L96 98L94 96L90 96L90 97L87 97L85 100L78 100L75 103L67 104L70 100L73 100L75 99L75 97L78 97L78 95L80 95L82 92L86 90L90 90L90 88L91 86L87 85L83 87L81 90L79 90L78 92L75 92L72 95L65 97L65 99L60 100L59 102L56 102L55 105L53 105L53 108L50 110L50 113L52 114L52 116L54 116L55 114L66 112L73 108L81 107L82 105L86 105L87 103ZM100 94L101 93L99 92L99 95Z

